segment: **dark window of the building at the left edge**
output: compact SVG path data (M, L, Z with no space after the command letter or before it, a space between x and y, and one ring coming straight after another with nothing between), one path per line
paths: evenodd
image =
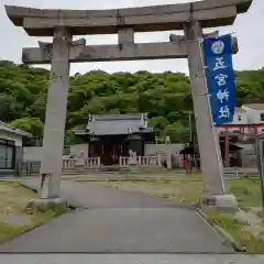
M0 169L14 168L14 142L0 139Z

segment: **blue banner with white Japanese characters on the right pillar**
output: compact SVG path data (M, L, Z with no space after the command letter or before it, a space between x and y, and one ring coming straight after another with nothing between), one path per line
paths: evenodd
M232 36L205 38L202 50L213 124L231 123L235 108Z

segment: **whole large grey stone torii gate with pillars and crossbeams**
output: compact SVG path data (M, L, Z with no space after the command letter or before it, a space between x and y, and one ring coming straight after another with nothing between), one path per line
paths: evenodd
M53 43L23 48L25 64L51 64L41 174L52 175L46 198L59 197L62 153L67 107L69 64L131 59L188 58L196 127L206 194L226 197L219 142L212 125L202 65L202 29L233 24L252 0L204 0L198 2L111 10L41 10L6 6L9 19L30 36L53 36ZM169 42L134 43L135 32L184 30ZM117 45L86 45L74 35L118 34ZM213 32L209 35L217 35ZM238 51L233 38L233 51Z

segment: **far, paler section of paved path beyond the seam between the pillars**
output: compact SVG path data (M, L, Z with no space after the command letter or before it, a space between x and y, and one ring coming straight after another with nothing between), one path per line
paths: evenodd
M38 189L40 179L24 179L23 184L32 189ZM82 209L99 208L191 208L188 204L175 202L162 198L153 198L141 193L100 187L95 183L62 182L62 197L74 207Z

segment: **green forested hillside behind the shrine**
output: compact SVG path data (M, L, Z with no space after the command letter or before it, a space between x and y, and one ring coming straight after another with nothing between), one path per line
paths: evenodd
M41 136L48 70L0 62L0 120ZM237 73L237 105L264 102L264 68ZM191 110L189 80L184 74L89 72L70 77L67 134L84 128L89 113L148 112L151 125L182 141Z

